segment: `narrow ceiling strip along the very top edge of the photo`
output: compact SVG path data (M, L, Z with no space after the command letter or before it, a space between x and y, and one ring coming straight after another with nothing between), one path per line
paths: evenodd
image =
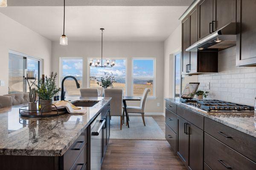
M67 6L189 6L193 0L66 0ZM63 0L7 0L8 6L62 6Z

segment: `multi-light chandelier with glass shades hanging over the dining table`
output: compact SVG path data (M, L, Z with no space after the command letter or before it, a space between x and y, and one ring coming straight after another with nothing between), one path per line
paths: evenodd
M102 31L102 44L103 44L103 30L104 28L100 28ZM93 59L90 59L89 62L90 67L96 67L96 68L112 68L115 65L115 60L106 59L106 61L103 64L103 59L98 59L96 62L94 62L93 65Z

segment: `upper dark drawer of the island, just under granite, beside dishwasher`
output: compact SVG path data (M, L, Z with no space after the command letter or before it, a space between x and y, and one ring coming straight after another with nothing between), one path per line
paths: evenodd
M87 143L87 129L76 139L76 141L70 146L70 148L63 155L64 170L70 170L74 162L78 158L82 149Z

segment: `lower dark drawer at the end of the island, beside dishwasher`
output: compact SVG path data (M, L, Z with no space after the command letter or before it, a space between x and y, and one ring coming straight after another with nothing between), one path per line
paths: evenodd
M84 170L87 167L87 145L81 151L71 170Z

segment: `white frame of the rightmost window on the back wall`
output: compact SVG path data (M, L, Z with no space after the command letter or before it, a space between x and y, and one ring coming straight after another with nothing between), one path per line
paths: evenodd
M131 59L131 95L134 95L134 60L153 60L153 96L148 96L149 99L156 99L156 58L155 57L133 57ZM141 96L135 96L141 97Z

